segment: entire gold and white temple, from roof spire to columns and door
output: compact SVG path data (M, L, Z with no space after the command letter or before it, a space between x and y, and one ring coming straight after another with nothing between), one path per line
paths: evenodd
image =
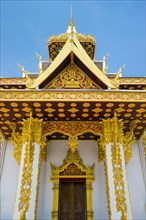
M146 78L95 46L71 19L37 73L0 79L1 219L145 219Z

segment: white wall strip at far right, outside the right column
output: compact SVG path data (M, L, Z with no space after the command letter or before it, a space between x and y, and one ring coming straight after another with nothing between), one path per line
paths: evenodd
M127 173L133 218L144 220L146 219L146 189L137 142L132 145L132 159L127 165Z

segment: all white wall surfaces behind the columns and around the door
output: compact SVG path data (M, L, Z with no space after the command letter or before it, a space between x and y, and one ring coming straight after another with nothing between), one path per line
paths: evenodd
M38 205L38 219L51 220L53 184L50 180L50 162L53 165L62 165L66 156L68 141L50 141L48 143L47 162L41 167L41 183ZM145 219L145 189L137 143L133 146L133 157L127 165L129 190L131 194L132 213L136 220ZM13 157L14 146L8 142L1 177L1 219L12 219L15 192L18 178L18 165ZM97 144L94 141L80 141L78 147L83 164L91 166L95 163L93 182L93 211L94 220L108 219L106 189L103 162L97 159Z

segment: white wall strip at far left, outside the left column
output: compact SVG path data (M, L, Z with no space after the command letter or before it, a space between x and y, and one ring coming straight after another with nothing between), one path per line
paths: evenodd
M13 157L14 146L7 142L1 176L1 219L12 219L19 167Z

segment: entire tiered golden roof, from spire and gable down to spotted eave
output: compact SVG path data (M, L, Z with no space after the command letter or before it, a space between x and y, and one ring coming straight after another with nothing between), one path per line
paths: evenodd
M94 61L95 38L76 32L71 19L67 32L48 40L49 61L39 58L37 74L20 66L25 77L0 79L0 126L11 135L10 123L33 116L44 121L97 121L117 116L124 121L124 132L132 121L140 137L146 123L145 78L121 77L122 68L108 74L105 57ZM50 138L63 138L61 134ZM82 138L97 139L86 134Z

